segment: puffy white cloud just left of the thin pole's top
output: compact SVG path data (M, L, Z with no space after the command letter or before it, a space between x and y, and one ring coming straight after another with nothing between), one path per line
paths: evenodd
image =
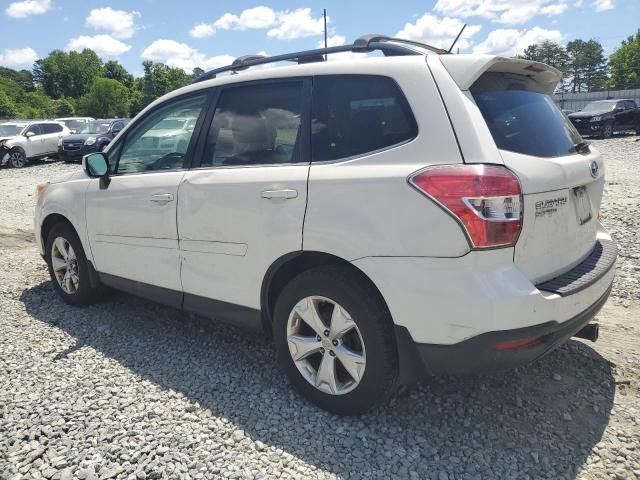
M330 19L327 17L327 22ZM243 10L239 15L225 13L211 23L199 23L190 31L194 38L214 35L218 30L247 30L269 28L267 36L279 40L320 35L324 31L322 17L313 18L310 8L298 8L277 12L269 7L254 7Z

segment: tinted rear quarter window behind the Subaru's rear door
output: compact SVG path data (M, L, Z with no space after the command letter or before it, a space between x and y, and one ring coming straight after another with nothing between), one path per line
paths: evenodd
M313 161L336 160L411 140L418 126L388 77L331 75L313 79Z

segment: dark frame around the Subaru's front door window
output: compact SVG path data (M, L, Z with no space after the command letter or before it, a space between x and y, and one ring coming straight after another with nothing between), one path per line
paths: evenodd
M145 114L139 118L134 118L133 120L131 120L129 123L125 124L123 127L123 130L126 128L126 132L124 135L120 136L118 138L118 140L116 142L113 143L113 146L111 146L111 148L109 148L109 151L114 151L117 152L117 159L115 159L115 167L113 170L113 173L110 173L109 176L110 177L124 177L124 176L128 176L128 175L145 175L145 174L149 174L149 173L165 173L165 172L178 172L178 171L182 171L182 170L188 170L189 169L189 165L191 164L191 160L194 154L194 150L195 150L195 146L196 146L196 142L197 140L199 140L199 135L200 135L200 130L202 129L202 124L204 121L204 118L206 117L206 114L208 114L209 109L211 108L211 103L212 103L212 98L214 96L214 90L215 87L213 88L202 88L199 90L195 90L193 92L188 92L185 93L183 95L179 95L176 97L171 97L167 100L165 100L162 103L159 103L158 105L154 106L153 108L149 109L147 112L145 112ZM143 171L143 172L127 172L127 173L118 173L118 166L120 165L120 157L122 155L122 147L124 146L125 142L127 141L127 138L129 138L129 135L131 134L132 131L134 131L138 125L142 124L145 120L147 120L150 116L156 114L158 112L158 110L166 107L168 104L170 103L177 103L177 102L181 102L183 100L188 100L190 98L194 98L194 97L199 97L199 96L204 96L205 97L205 101L204 101L204 105L202 107L202 110L200 111L200 114L198 115L198 120L196 121L196 125L193 129L193 133L191 134L191 139L189 140L189 146L187 147L187 152L185 153L184 156L184 160L182 162L182 167L179 168L171 168L171 169L166 169L166 170L148 170L148 171ZM111 126L109 127L109 131L111 131L111 128L113 127L113 123L111 124ZM127 128L129 127L129 128ZM121 130L122 132L122 130ZM111 161L111 158L108 158L109 162Z

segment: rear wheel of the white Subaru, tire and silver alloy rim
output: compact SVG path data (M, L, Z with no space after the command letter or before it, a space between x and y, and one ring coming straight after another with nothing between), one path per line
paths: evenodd
M312 327L309 319L318 318L321 323ZM320 408L359 415L396 391L393 322L379 292L361 273L344 266L301 273L279 295L273 327L283 370Z

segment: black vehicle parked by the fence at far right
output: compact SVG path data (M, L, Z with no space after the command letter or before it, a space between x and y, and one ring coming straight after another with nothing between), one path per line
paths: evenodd
M640 109L633 100L599 100L567 116L580 135L609 138L624 130L640 135Z

